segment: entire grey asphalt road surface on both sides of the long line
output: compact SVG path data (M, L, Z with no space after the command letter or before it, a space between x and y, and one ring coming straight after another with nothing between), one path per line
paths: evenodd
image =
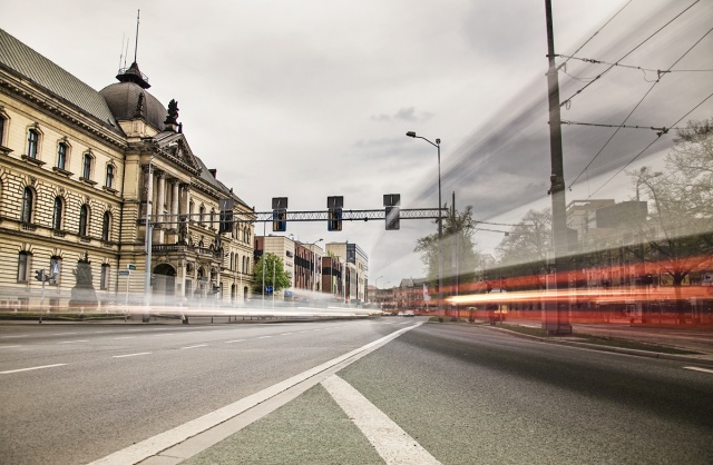
M101 458L399 329L187 463L713 463L710 370L418 323L2 325L2 463Z

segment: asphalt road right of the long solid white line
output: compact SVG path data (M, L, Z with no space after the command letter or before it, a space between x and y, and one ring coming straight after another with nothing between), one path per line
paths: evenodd
M713 373L684 366L429 324L336 375L445 464L710 464ZM321 384L186 463L383 463L354 423Z

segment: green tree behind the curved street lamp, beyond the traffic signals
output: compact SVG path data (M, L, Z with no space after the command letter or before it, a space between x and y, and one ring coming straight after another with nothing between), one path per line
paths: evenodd
M438 220L434 224L438 225ZM443 286L456 286L476 279L480 257L476 253L475 233L476 220L472 218L472 207L466 207L462 212L451 207L448 217L443 220L441 244ZM418 239L413 251L421 254L421 261L426 265L427 280L431 285L437 284L438 231Z

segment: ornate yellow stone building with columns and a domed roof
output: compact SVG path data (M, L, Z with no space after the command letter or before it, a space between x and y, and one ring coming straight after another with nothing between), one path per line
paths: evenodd
M177 103L153 97L136 63L116 79L97 91L0 30L0 307L39 304L41 269L43 304L67 305L82 261L100 305L146 284L156 304L252 287L253 209L193 152Z

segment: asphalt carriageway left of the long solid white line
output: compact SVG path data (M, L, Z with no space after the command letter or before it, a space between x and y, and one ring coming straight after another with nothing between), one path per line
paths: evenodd
M91 462L401 323L0 325L0 462Z

